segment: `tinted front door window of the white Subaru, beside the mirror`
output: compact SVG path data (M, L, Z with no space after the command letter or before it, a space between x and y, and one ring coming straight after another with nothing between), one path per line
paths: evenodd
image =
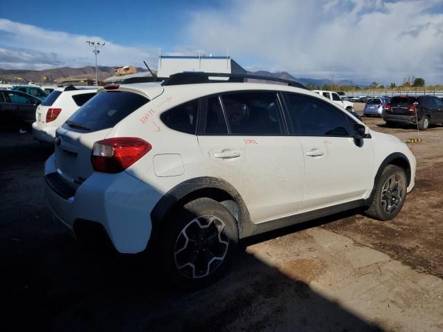
M347 116L332 105L304 95L288 94L289 116L302 136L351 136Z

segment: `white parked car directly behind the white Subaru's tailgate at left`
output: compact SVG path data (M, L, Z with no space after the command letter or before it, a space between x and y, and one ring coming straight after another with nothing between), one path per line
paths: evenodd
M35 111L34 139L53 144L57 128L96 95L96 91L96 88L77 89L74 86L56 88Z

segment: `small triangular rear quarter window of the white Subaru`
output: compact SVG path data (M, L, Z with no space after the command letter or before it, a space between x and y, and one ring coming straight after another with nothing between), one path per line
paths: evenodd
M170 129L195 135L198 109L199 100L192 100L163 112L160 119Z

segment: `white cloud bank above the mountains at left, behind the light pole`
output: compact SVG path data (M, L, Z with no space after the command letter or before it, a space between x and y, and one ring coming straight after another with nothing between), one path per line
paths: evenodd
M98 55L99 66L144 66L156 68L159 49L114 44L100 36L51 31L37 26L0 19L0 68L43 69L60 66L95 65L87 40L105 42Z

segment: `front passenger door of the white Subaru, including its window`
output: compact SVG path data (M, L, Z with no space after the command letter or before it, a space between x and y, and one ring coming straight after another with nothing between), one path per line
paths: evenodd
M307 95L287 93L289 116L305 156L302 210L362 199L372 189L372 142L352 137L351 116Z

